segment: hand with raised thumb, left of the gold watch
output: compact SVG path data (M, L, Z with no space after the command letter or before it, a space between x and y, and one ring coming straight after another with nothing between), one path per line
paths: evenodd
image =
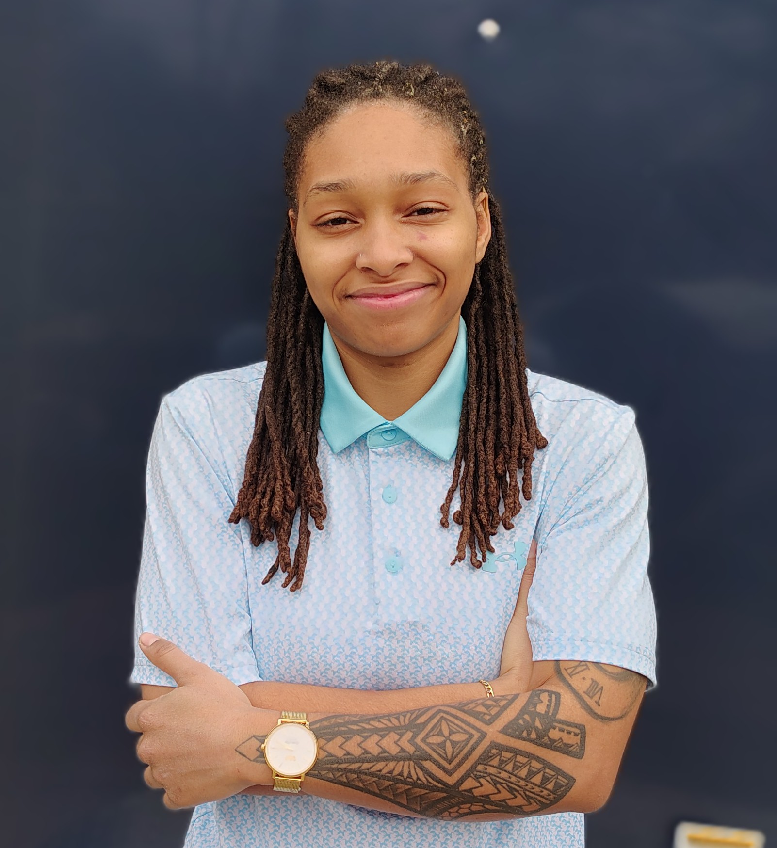
M259 784L266 764L235 749L263 734L263 725L269 731L277 714L251 706L239 686L167 639L140 645L177 683L154 700L137 701L125 717L127 728L143 734L137 741L137 757L148 763L143 779L153 789L165 789L165 806L175 810L218 801Z

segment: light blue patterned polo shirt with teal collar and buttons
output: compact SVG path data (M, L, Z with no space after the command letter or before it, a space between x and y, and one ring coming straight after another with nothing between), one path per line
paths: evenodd
M281 680L404 689L499 674L502 640L532 538L528 598L535 660L611 663L656 681L647 577L645 455L634 410L527 370L539 430L533 496L481 569L456 566L461 528L440 526L452 479L467 326L437 382L396 421L351 387L328 328L318 465L327 519L312 533L299 592L277 543L227 522L243 483L266 362L204 374L162 398L148 453L131 683L175 685L137 646L171 639L234 683ZM519 472L520 473L520 472ZM458 488L450 515L459 508ZM293 524L292 553L299 514ZM296 705L278 704L293 710ZM315 795L234 795L195 807L185 848L583 848L584 816L448 822L374 812Z

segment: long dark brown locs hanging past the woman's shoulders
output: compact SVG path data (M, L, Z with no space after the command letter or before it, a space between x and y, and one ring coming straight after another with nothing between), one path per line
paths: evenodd
M461 404L453 479L440 506L440 524L449 527L450 504L459 487L461 525L456 556L480 568L490 537L500 523L507 530L521 510L521 491L532 497L534 449L545 448L528 396L523 327L507 264L499 204L489 189L489 165L483 127L467 93L456 79L428 64L402 65L388 60L352 64L316 75L299 112L286 120L284 188L298 209L297 190L310 139L353 104L384 100L412 105L418 114L447 127L469 175L472 199L489 196L491 238L472 275L461 315L467 324L467 387ZM267 320L267 365L259 395L254 435L246 457L243 485L229 521L248 518L251 543L258 546L277 534L277 557L262 583L278 568L282 585L302 586L310 547L309 518L322 530L327 517L318 469L318 428L324 381L321 337L324 320L310 298L299 265L290 222L278 246ZM500 501L504 510L500 511ZM299 510L299 538L293 562L289 536ZM483 555L478 557L476 544Z

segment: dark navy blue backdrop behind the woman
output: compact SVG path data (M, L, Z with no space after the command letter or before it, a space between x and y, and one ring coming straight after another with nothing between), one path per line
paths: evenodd
M681 818L777 839L775 23L757 0L0 3L8 845L182 843L124 727L154 414L263 358L282 121L317 70L387 56L483 116L529 367L637 412L660 683L588 844L668 846Z

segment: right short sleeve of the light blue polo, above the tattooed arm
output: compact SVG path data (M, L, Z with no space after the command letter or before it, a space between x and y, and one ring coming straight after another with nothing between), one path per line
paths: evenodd
M655 686L645 454L634 410L584 401L540 510L528 597L535 660L604 662Z

